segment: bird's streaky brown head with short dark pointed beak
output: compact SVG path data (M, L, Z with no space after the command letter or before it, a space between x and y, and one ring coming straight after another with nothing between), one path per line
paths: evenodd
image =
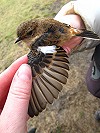
M38 21L29 20L21 23L17 28L17 39L15 43L19 41L25 42L28 46L33 42L35 38L38 38Z

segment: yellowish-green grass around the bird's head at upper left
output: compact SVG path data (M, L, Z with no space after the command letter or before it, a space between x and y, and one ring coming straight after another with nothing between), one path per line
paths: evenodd
M17 26L30 18L54 17L64 0L0 0L0 72L27 53L14 44ZM58 5L58 6L59 6Z

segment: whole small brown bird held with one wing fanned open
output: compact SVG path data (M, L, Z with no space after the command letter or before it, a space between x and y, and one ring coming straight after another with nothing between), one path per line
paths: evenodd
M73 36L100 40L86 29L78 30L52 18L31 19L17 28L17 40L30 49L28 64L32 69L32 90L28 114L38 116L47 103L52 104L68 78L69 61L62 45Z

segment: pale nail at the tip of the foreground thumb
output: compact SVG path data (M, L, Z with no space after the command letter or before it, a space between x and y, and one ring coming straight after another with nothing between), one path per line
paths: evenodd
M18 69L17 75L22 80L30 80L32 78L30 66L28 64L22 64Z

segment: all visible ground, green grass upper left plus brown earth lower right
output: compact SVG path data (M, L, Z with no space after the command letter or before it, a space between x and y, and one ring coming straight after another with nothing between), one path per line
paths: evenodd
M28 51L26 47L14 44L18 24L32 17L54 17L65 3L66 0L0 1L1 72ZM52 105L28 121L28 129L37 127L37 133L100 132L100 123L94 118L95 111L100 108L100 100L89 93L85 83L92 53L90 50L69 57L67 84Z

